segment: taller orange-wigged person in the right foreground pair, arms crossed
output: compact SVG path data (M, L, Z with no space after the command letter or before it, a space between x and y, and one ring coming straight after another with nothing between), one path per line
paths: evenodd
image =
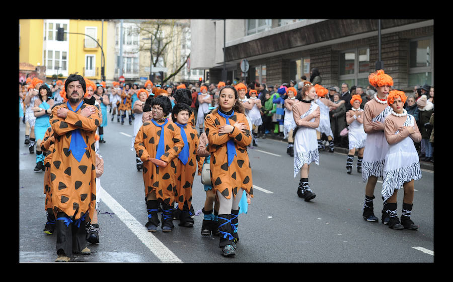
M366 133L366 146L362 160L362 178L366 182L365 201L363 203L363 219L369 222L378 222L374 216L373 199L374 187L378 177L383 175L388 143L384 135L384 120L390 113L391 107L387 104L387 94L393 86L393 79L384 70L370 73L368 81L378 91L374 97L366 102L363 108L363 129ZM386 212L386 202L382 210L382 223L387 224L389 216Z

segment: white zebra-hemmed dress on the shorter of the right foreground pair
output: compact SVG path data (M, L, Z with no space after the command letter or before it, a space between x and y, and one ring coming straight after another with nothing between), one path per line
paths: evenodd
M408 114L403 126L414 126L415 118ZM395 134L397 134L395 132ZM400 142L390 145L386 155L382 196L384 201L389 199L395 189L400 189L403 183L421 178L420 161L414 141L407 136Z

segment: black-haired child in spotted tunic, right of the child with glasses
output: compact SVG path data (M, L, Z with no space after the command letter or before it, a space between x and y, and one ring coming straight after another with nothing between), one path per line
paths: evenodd
M172 109L173 122L178 125L184 141L184 147L178 154L175 200L178 203L179 226L193 227L192 185L197 171L198 135L195 126L190 125L189 114L192 112L186 103L177 103ZM177 129L178 130L178 129Z

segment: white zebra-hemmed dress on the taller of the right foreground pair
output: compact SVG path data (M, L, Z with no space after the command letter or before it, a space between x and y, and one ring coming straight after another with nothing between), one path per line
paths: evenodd
M380 114L376 115L372 121L384 123L386 116L392 108L387 106ZM384 131L369 133L366 135L366 146L363 152L362 161L362 179L363 182L368 180L368 177L383 176L384 165L389 144L387 143Z

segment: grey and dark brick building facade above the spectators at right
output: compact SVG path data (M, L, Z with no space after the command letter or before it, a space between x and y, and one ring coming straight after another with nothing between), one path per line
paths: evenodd
M310 79L317 68L325 87L367 86L381 56L395 88L433 85L434 21L386 19L379 25L374 19L191 20L191 63L208 69L213 83L222 80L223 69L227 80L279 85ZM242 60L250 65L246 74Z

